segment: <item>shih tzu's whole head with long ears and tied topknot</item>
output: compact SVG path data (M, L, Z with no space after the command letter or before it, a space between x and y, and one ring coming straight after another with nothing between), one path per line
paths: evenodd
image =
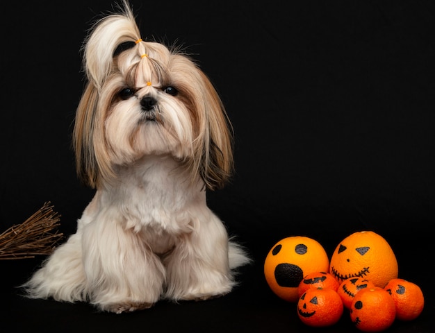
M100 19L83 44L88 83L76 112L79 176L91 187L118 165L172 155L192 181L224 185L233 168L231 124L206 75L186 54L140 37L131 8Z

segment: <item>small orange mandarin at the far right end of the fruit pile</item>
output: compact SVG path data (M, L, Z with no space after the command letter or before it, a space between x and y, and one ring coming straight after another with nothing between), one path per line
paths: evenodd
M404 279L393 279L384 289L393 297L397 319L412 321L420 316L425 307L425 298L417 284Z

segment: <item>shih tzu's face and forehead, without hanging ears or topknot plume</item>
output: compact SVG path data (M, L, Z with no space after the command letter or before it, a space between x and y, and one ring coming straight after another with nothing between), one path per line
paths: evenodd
M201 74L183 56L158 43L140 42L114 60L115 71L101 87L101 117L107 153L115 164L143 155L170 153L179 159L194 155L201 133L198 101ZM204 101L203 103L210 103Z

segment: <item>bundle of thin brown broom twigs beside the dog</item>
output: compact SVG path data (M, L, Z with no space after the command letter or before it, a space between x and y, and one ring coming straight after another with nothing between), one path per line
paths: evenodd
M48 255L63 237L58 232L60 215L50 203L21 224L13 225L0 234L0 259L26 259Z

